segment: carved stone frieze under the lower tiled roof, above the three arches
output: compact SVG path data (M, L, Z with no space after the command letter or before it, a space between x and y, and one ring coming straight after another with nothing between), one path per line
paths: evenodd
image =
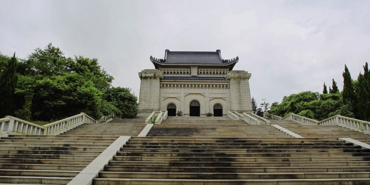
M229 84L205 84L205 83L161 83L162 89L229 89Z

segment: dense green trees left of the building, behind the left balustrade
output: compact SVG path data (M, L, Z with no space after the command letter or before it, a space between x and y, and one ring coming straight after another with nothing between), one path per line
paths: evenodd
M15 108L0 111L0 117L14 115L26 120L55 121L80 112L93 118L111 112L128 118L138 112L137 97L128 88L112 87L114 78L95 58L65 57L50 43L19 59L16 71L10 64L4 66L4 61L10 63L9 57L0 54L0 77L4 79L13 71L17 81L13 92L10 91L15 97Z

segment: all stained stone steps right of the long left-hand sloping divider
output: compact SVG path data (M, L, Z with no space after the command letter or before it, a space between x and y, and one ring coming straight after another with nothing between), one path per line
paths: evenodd
M319 185L370 182L370 150L335 136L272 135L270 125L169 118L132 137L94 185ZM212 127L213 125L213 127ZM255 127L256 126L256 127Z

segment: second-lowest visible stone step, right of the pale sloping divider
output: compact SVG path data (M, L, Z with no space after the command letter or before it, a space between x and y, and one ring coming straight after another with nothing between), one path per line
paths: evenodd
M99 178L134 179L322 179L370 178L370 172L318 173L161 173L161 172L100 172Z

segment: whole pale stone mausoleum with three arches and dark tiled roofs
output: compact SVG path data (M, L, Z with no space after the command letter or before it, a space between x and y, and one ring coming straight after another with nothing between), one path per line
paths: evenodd
M221 51L169 51L163 59L150 56L155 69L139 72L139 115L177 111L184 116L227 116L252 112L247 71L232 70L239 58L222 59Z

